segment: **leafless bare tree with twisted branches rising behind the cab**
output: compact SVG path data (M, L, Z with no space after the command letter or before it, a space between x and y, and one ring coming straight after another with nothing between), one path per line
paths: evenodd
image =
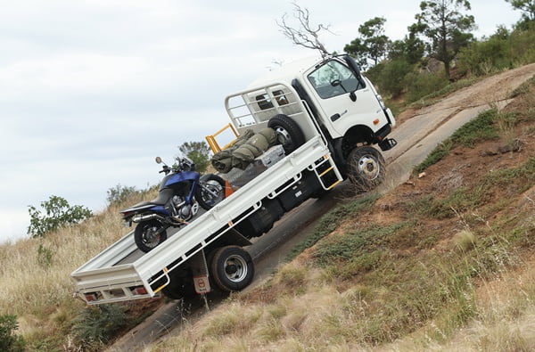
M301 45L309 49L319 50L322 57L325 57L331 53L325 49L325 45L319 40L319 33L323 30L329 33L332 33L329 28L331 25L318 24L317 26L312 26L310 24L310 12L307 8L300 7L299 4L292 3L293 5L293 17L299 20L299 28L292 28L286 21L288 14L284 13L281 17L281 21L276 20L277 26L281 28L281 32L284 34L284 37L292 40L292 43L295 45ZM313 27L315 29L313 29Z

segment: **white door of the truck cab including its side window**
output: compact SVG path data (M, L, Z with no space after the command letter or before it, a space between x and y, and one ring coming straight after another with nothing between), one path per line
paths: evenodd
M381 119L375 124L378 129L386 122L369 81L358 79L345 62L326 61L309 73L307 79L309 86L314 88L319 109L334 138L343 136L355 125L373 126L372 121Z

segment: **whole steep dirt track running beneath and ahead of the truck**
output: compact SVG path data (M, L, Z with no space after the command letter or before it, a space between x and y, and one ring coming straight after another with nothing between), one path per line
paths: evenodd
M515 70L508 70L496 76L486 78L477 84L465 87L431 106L400 116L398 127L392 136L399 142L391 151L384 153L387 161L388 179L379 192L388 192L398 184L404 183L412 168L422 162L430 151L441 141L453 134L458 127L473 119L490 106L505 106L506 97L524 81L535 75L535 64ZM315 226L311 218L319 218L328 209L340 202L342 186L322 200L309 200L298 209L293 209L280 220L276 227L262 236L251 250L255 260L256 275L251 287L266 280L273 270L283 262L286 253L294 242L305 238ZM251 287L249 289L251 289ZM218 298L210 304L217 304ZM192 323L202 316L204 307L196 304L187 320ZM112 351L142 350L162 335L172 333L179 328L184 315L177 302L161 307L155 314L128 332L111 348Z

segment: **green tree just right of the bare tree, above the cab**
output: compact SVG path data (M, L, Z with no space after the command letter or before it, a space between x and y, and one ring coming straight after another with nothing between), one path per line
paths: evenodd
M384 35L383 17L375 17L366 20L358 27L360 37L355 38L349 45L345 45L343 50L356 58L362 66L367 66L367 61L373 61L376 65L386 56L391 43L389 37Z

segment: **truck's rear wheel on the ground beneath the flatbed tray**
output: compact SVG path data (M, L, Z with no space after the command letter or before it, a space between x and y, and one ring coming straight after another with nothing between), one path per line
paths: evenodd
M251 255L239 246L222 247L211 258L210 274L222 291L241 291L254 276Z

